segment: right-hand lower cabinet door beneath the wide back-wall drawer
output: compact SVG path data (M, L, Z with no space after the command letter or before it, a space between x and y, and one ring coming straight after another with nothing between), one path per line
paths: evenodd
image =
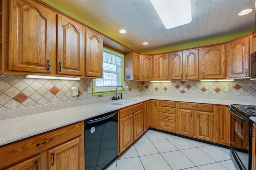
M196 112L196 115L196 137L202 140L212 141L213 113Z

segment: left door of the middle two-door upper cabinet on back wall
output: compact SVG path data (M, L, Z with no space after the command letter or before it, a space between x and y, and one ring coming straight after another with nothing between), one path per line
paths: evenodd
M171 56L171 80L182 80L183 52L174 52Z

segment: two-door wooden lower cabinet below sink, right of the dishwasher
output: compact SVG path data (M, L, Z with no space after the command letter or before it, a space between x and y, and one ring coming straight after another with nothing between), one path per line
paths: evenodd
M143 134L143 103L119 110L119 154Z

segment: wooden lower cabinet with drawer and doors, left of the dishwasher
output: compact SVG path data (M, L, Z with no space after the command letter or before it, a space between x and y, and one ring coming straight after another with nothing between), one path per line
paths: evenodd
M0 147L1 170L84 170L84 122Z

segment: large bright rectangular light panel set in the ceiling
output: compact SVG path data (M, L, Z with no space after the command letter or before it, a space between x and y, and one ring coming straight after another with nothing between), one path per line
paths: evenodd
M190 0L150 0L166 29L192 21Z

